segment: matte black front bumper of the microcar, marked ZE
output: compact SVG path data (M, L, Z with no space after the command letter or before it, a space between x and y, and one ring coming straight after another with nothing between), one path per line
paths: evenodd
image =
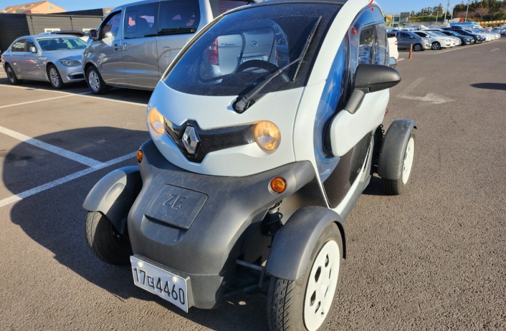
M215 308L234 279L245 230L314 178L309 161L244 177L192 173L168 162L152 140L141 146L142 190L128 216L134 254L189 277L189 307ZM282 194L270 190L277 176ZM247 243L246 243L247 244Z

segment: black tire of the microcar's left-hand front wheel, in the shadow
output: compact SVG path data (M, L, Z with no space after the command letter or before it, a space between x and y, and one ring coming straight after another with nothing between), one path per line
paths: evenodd
M102 213L93 211L86 215L86 241L102 261L115 265L130 263L132 246L128 236L121 234Z

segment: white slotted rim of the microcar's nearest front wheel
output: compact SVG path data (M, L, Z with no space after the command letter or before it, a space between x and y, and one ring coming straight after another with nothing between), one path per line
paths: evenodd
M304 324L309 331L317 330L332 307L338 286L341 252L338 243L330 240L315 258L304 296Z

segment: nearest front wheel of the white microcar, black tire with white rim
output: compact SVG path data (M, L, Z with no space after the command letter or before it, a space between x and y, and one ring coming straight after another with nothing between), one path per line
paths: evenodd
M313 248L303 276L294 281L271 276L267 293L269 330L323 331L332 314L342 259L341 232L331 223Z

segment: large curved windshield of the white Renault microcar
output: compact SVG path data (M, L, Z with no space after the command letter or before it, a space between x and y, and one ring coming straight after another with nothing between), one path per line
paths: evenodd
M196 40L162 79L178 91L210 96L244 94L262 82L266 82L262 93L303 86L328 24L340 8L276 4L232 12ZM299 65L294 60L310 36ZM283 67L282 74L268 81Z

